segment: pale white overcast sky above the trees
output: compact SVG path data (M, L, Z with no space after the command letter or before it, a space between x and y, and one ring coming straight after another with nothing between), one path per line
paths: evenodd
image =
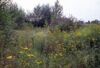
M13 0L26 12L31 12L38 4L53 6L56 0ZM74 16L79 20L100 20L100 0L59 0L64 16Z

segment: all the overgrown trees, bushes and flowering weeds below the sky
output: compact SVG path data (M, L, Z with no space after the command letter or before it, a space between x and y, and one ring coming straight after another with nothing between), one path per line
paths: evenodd
M58 0L28 15L0 0L0 68L100 68L100 22L64 17Z

